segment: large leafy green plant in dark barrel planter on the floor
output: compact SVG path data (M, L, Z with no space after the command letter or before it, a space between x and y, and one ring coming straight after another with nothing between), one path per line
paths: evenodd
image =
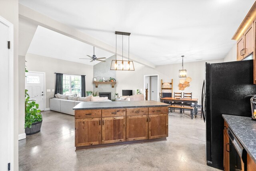
M42 113L38 110L35 100L30 100L28 90L25 89L25 133L32 135L40 132L42 126Z

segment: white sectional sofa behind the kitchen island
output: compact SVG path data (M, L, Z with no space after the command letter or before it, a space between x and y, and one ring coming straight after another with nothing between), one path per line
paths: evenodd
M98 97L95 97L94 99L97 99L97 98ZM103 99L103 100L97 100L97 101L111 101L111 100ZM75 111L73 110L73 107L75 107L78 103L81 103L81 102L90 103L90 101L76 101L76 100L68 100L68 99L60 99L60 98L51 98L50 110L66 113L69 115L75 115Z

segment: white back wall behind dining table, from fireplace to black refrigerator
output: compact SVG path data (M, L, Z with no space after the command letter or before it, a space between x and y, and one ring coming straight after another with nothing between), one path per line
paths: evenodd
M223 62L220 60L208 60L200 62L184 63L184 69L187 70L188 77L192 78L190 87L186 87L182 92L192 92L193 98L198 98L198 104L201 104L202 84L205 79L205 63ZM159 74L159 92L160 80L163 82L171 82L173 79L173 92L180 92L178 84L181 78L178 77L178 70L181 69L181 64L169 64L157 66L156 69L148 68L138 63L134 63L135 71L117 71L116 72L116 92L122 94L122 89L144 89L143 84L144 75Z

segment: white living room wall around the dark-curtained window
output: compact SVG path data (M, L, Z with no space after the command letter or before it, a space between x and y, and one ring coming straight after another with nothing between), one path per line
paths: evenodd
M51 89L51 92L45 92L46 108L50 107L50 98L54 97L55 89L55 72L63 74L86 75L86 91L92 90L93 66L58 60L35 54L26 54L26 66L28 71L45 72L46 89Z

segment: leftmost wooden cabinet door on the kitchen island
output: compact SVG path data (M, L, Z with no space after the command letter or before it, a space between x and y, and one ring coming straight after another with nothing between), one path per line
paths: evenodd
M101 118L75 119L75 146L101 144Z

